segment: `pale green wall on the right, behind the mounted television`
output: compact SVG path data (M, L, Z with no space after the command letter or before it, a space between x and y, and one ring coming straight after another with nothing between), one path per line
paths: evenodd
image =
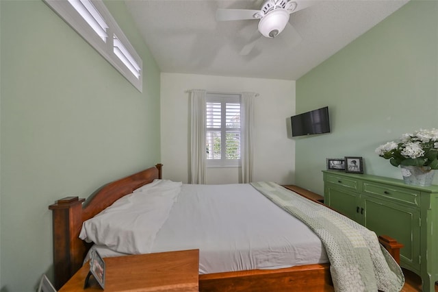
M331 134L296 138L296 184L322 194L326 158L402 178L378 145L438 128L438 1L413 0L296 82L296 112L329 106ZM435 177L438 184L438 175Z

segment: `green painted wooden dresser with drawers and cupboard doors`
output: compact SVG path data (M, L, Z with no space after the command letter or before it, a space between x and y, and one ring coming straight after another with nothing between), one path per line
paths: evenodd
M422 277L423 291L438 281L438 186L411 186L376 175L323 171L324 203L402 243L402 267Z

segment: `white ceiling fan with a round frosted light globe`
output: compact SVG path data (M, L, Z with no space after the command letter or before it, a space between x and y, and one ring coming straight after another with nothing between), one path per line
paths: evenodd
M259 20L258 32L261 37L249 42L240 51L240 55L248 55L260 38L275 38L281 32L288 34L287 42L301 40L296 29L289 23L289 14L308 8L311 1L266 0L260 10L221 9L216 11L217 21L239 21L244 19Z

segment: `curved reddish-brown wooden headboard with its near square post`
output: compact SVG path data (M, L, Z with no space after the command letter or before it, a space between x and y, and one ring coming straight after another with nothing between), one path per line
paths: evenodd
M53 266L55 289L62 285L82 266L91 244L79 239L83 221L98 214L117 199L133 190L162 178L162 164L145 169L126 178L99 188L88 199L64 197L49 206L53 211Z

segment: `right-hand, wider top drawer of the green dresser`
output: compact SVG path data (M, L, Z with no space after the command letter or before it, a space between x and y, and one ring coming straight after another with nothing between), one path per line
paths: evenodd
M379 197L387 197L394 201L420 206L420 191L407 188L363 182L363 193L379 195Z

